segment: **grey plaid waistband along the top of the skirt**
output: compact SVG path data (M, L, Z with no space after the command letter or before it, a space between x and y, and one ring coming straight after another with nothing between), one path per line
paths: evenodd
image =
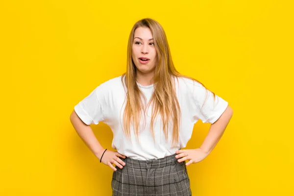
M136 159L126 157L125 159L122 159L122 160L125 163L126 167L131 167L131 168L142 168L142 169L163 168L169 165L175 165L177 163L177 159L175 158L175 155L176 153L161 159L136 160Z

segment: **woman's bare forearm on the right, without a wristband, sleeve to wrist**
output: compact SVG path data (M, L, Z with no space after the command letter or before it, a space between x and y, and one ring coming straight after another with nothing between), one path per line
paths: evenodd
M209 154L217 145L232 116L233 110L230 106L227 106L221 117L215 123L211 124L208 134L205 137L202 145L200 146L200 148L203 149L204 152Z

